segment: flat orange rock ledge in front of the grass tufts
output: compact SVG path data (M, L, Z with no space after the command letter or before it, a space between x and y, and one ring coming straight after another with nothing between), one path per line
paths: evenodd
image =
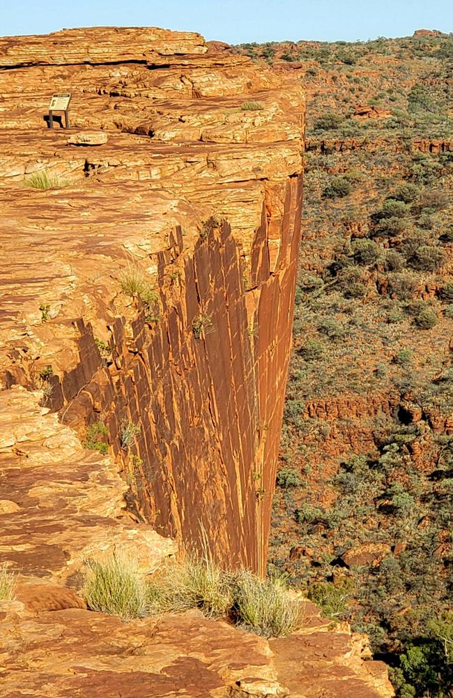
M33 611L15 601L0 602L0 620L5 698L24 691L56 698L393 695L385 665L364 662L364 638L346 623L328 632L309 602L304 630L272 641L198 612L123 623L77 607Z

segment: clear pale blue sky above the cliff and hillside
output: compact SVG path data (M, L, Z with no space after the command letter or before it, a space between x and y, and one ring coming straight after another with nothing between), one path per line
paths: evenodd
M167 27L228 43L453 31L453 0L0 0L0 35L63 27Z

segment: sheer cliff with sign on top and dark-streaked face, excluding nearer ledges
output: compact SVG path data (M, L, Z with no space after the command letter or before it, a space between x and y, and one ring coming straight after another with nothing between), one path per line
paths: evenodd
M3 388L44 388L82 440L107 427L131 519L189 545L206 531L223 563L263 573L300 83L198 34L74 29L0 40L0 90ZM71 128L47 129L66 92ZM146 293L124 292L131 277Z

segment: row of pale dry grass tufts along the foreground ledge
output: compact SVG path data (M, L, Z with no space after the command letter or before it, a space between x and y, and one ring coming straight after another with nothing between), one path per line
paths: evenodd
M303 621L303 603L282 577L222 570L207 551L169 563L148 579L131 558L89 560L83 594L93 611L125 620L199 609L264 637L289 634Z

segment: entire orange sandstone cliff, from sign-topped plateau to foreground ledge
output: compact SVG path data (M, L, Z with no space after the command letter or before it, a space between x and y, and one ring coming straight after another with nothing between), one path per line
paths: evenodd
M72 128L48 131L60 91ZM176 552L159 534L197 544L201 527L222 562L265 568L300 84L198 34L81 29L1 39L0 93L0 563L22 583L0 604L9 698L391 695L358 637L308 606L302 634L268 644L190 614L124 628L62 589L87 556L133 549L153 570ZM59 186L24 186L36 172ZM147 304L123 292L131 274ZM81 446L99 420L107 456Z

